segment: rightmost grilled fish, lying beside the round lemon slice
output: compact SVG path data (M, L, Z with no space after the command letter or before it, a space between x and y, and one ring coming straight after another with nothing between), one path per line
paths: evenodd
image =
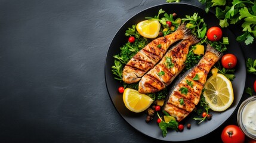
M209 70L221 56L222 53L208 44L199 63L175 81L165 100L164 111L174 116L178 122L187 117L200 100Z

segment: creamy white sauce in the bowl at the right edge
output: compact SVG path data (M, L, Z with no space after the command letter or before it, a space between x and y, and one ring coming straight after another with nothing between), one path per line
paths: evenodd
M247 132L256 136L256 100L249 102L243 108L242 123Z

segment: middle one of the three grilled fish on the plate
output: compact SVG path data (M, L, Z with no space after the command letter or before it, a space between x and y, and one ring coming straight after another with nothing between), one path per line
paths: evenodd
M138 84L138 92L147 94L166 88L184 69L190 45L199 41L195 35L190 35L188 39L172 46L166 52L164 58L141 78Z

